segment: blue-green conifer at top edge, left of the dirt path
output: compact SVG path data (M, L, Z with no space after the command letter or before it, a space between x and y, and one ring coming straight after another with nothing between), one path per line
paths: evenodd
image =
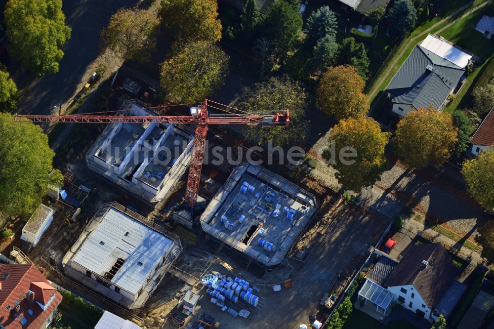
M399 37L409 34L415 27L415 11L412 0L396 0L386 16L390 32Z

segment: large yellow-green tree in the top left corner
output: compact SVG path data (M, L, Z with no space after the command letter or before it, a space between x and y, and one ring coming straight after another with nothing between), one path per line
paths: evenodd
M4 20L12 58L37 75L58 72L60 48L71 33L62 0L8 0Z

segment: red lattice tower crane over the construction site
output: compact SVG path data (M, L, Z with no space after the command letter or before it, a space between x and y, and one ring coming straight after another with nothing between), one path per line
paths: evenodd
M207 102L211 102L215 106L208 105ZM210 114L207 109L208 106L226 113ZM230 109L236 112L232 112ZM185 191L185 206L191 212L196 203L199 190L208 125L276 126L288 125L290 122L288 109L285 113L252 114L207 99L200 106L191 107L190 116L15 115L16 121L22 118L32 120L35 123L171 123L196 125L194 146L192 148L192 158Z

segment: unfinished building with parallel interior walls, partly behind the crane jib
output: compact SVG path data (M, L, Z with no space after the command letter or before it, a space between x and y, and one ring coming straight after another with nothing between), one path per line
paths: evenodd
M151 116L139 101L127 101L121 115ZM184 125L112 123L86 153L89 169L147 203L163 200L185 173L193 131Z

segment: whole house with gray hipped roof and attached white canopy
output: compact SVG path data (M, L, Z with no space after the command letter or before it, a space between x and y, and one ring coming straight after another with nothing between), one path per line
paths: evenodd
M434 106L442 110L448 96L463 79L472 58L442 37L428 35L412 53L386 87L392 111L399 116L419 108Z

